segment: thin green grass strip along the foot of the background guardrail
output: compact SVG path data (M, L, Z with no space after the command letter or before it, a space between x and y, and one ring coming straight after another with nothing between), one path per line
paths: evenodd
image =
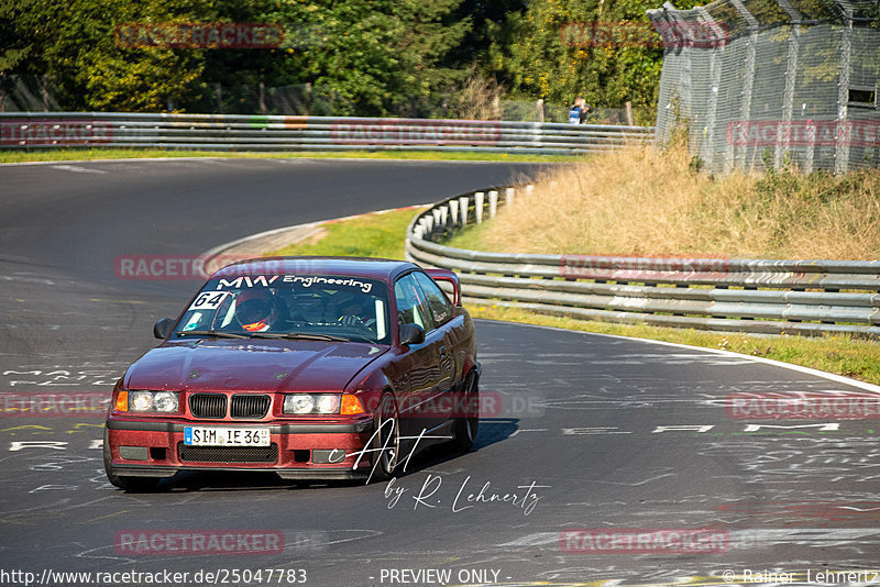
M493 160L493 162L571 162L581 158L569 155L527 155L481 153L471 151L297 151L297 152L230 152L230 151L174 151L138 148L65 148L0 152L0 164L44 160L132 159L156 157L234 157L234 158L302 158L333 157L340 159L413 159L413 160Z

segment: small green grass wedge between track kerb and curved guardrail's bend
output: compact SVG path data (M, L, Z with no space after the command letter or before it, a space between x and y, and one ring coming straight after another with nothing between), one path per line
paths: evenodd
M364 214L326 224L326 235L272 251L267 255L329 255L404 258L404 234L417 208Z

